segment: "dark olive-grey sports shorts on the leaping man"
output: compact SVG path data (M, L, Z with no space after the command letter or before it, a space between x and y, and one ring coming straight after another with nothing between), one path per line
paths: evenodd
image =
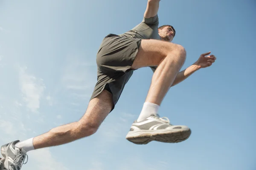
M97 83L93 99L104 89L113 94L114 109L125 84L131 78L134 69L131 66L137 55L141 39L109 34L102 40L96 57Z

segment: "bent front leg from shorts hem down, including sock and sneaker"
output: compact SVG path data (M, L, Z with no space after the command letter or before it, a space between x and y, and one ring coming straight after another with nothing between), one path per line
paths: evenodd
M150 141L177 143L189 138L189 127L169 124L169 120L159 118L157 110L154 110L154 106L159 106L163 101L185 59L186 51L180 45L160 40L142 40L132 69L158 67L146 98L145 104L149 105L145 106L149 106L149 109L145 109L142 118L132 124L126 135L128 141L134 144L148 144Z

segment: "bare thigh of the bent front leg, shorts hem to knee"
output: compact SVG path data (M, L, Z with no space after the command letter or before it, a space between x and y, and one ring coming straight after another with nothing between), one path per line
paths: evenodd
M147 66L158 66L169 52L178 49L180 45L161 40L141 40L140 48L131 66L139 69Z

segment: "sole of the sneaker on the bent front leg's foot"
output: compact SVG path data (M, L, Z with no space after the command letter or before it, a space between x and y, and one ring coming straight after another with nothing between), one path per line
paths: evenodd
M159 141L164 143L178 143L189 138L191 130L147 130L147 131L130 131L126 135L126 139L134 144L148 144L151 141Z

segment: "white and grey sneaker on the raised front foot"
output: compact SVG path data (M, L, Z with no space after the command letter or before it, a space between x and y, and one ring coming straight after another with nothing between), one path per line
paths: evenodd
M189 127L174 126L168 118L152 114L142 121L134 121L126 139L134 144L148 144L151 141L177 143L185 141L190 134Z

